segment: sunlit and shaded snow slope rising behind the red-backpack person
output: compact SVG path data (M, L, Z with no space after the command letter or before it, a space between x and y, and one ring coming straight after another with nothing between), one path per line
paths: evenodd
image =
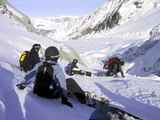
M159 50L159 34L156 34L158 30L153 30L155 36L150 36L150 31L153 28L159 28L155 28L160 23L156 20L159 19L159 11L159 8L152 9L136 21L134 19L130 20L108 32L88 35L78 41L69 40L66 44L76 49L80 46L79 52L90 61L92 66L97 66L98 61L114 54L121 54L126 62L135 65L131 66L132 70L129 70L132 74L150 75L156 73L156 71L159 72L158 67L153 68L159 64L159 54L156 52ZM88 46L89 44L92 45ZM151 55L152 57L150 57ZM95 64L93 65L93 63ZM126 71L128 69L129 66L127 66ZM147 69L147 71L145 72L144 69ZM148 71L148 69L150 70Z

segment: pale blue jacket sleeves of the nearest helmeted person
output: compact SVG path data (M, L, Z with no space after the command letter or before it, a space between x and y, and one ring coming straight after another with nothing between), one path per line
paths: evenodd
M53 61L47 61L47 62L53 64L52 65L52 67L53 67L53 80L57 80L56 82L59 83L62 88L66 89L66 79L65 79L64 72L63 72L62 68L60 67L60 65L56 62L53 62ZM23 82L24 84L30 84L30 83L34 82L38 67L41 64L43 64L43 62L40 62L39 64L37 64L31 71L29 71L26 74L25 81ZM57 79L55 79L55 77Z

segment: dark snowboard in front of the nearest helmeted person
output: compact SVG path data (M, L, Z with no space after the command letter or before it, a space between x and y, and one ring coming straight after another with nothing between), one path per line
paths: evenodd
M127 112L123 108L117 105L110 104L110 101L104 97L97 96L95 93L84 91L77 82L69 78L66 81L69 97L77 99L81 104L86 104L89 107L97 108L100 104L107 105L109 112L118 116L116 120L142 120L140 117Z

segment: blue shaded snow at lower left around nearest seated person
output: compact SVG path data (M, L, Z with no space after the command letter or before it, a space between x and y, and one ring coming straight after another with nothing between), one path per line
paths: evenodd
M93 109L85 105L74 104L73 109L60 104L60 100L46 100L36 97L29 91L14 88L14 71L9 65L1 63L1 120L87 120ZM9 69L9 70L8 70ZM83 111L84 113L81 113Z

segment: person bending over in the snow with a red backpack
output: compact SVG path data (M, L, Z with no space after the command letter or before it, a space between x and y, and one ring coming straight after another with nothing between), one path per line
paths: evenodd
M124 61L122 61L119 57L111 57L106 63L104 64L103 68L107 69L107 76L118 76L117 74L120 72L122 77L124 76L122 65L124 65Z

